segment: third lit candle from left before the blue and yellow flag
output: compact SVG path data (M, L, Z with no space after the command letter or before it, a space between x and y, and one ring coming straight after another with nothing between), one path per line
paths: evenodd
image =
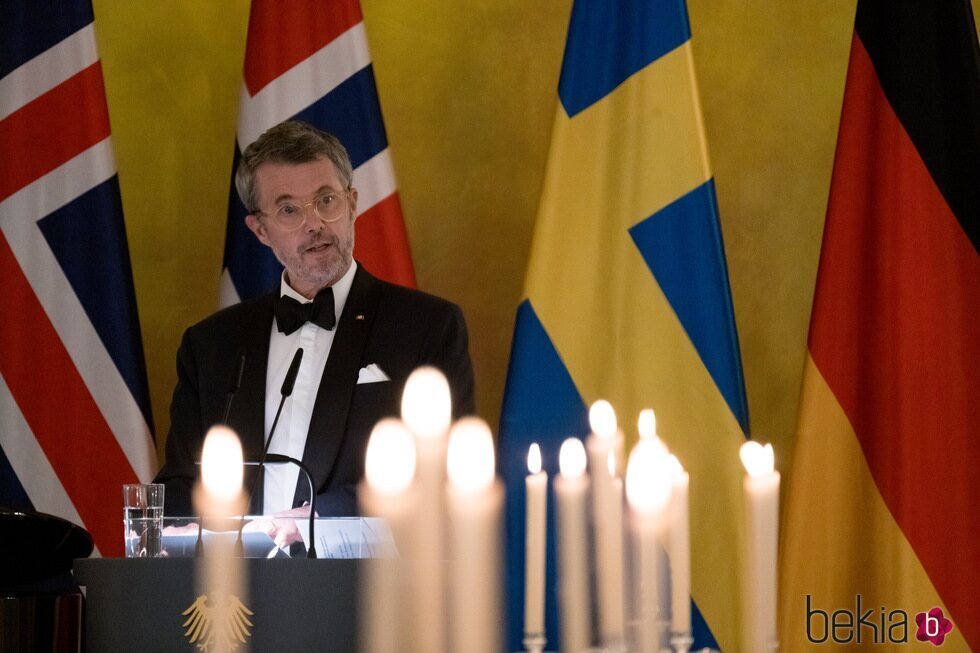
M609 470L609 456L622 447L623 434L616 428L616 413L608 401L600 399L592 404L589 422L592 434L587 446L593 482L599 634L603 645L615 648L621 646L623 640L623 547L622 533L616 533L610 523L617 496L614 476ZM618 500L621 501L621 497Z

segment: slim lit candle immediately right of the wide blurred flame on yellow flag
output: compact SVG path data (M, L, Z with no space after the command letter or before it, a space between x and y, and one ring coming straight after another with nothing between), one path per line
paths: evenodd
M688 491L690 476L676 456L670 456L671 479L667 523L670 555L671 626L675 635L691 632L691 535Z

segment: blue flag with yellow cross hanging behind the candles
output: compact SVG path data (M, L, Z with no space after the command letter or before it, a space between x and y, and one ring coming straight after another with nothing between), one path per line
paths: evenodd
M695 647L737 648L748 409L690 39L679 0L572 9L501 416L510 650L521 642L528 445L541 443L556 473L561 441L588 431L599 398L627 437L642 408L656 410L691 475Z

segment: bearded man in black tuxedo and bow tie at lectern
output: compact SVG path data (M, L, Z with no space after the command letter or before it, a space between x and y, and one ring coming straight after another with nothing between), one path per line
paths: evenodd
M246 458L257 459L286 371L296 350L304 350L269 451L301 459L316 493L309 496L295 467L269 465L252 512L302 516L312 503L320 516L356 514L371 429L399 413L405 380L419 366L446 375L455 417L473 412L459 307L376 279L354 261L352 177L343 145L298 121L272 127L242 154L235 185L249 211L246 223L285 269L275 293L221 310L184 334L166 464L156 478L166 484L168 515L193 514L195 461L205 432L223 417L242 357L227 421Z

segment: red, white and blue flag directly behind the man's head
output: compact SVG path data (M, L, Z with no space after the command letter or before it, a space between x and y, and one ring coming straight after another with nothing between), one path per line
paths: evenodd
M373 274L405 286L415 272L374 83L358 0L253 0L245 49L232 171L250 143L283 120L304 120L336 135L358 190L354 256ZM221 305L275 288L282 266L245 226L235 191L228 201Z

